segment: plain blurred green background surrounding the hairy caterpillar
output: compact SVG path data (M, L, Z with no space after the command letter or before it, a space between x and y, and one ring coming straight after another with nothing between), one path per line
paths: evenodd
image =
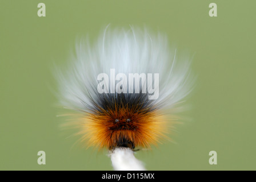
M46 17L37 16L44 2ZM208 14L217 3L218 17ZM111 170L106 151L74 144L52 90L78 36L146 25L179 50L195 53L197 86L175 143L137 152L150 170L256 169L255 1L0 1L0 169ZM37 152L46 152L46 165ZM218 153L210 165L209 151Z

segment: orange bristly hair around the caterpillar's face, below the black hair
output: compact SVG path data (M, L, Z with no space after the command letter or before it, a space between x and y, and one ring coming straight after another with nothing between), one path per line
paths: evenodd
M89 146L98 148L150 148L150 144L156 145L166 137L166 122L156 111L122 108L87 115L83 118L81 133L88 139Z

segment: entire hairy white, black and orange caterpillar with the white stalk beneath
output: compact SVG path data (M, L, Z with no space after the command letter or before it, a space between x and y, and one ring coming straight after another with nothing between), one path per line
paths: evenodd
M194 82L189 56L178 56L165 35L134 27L106 27L93 45L81 40L57 77L61 105L81 113L81 142L107 148L116 170L145 170L134 148L166 138Z

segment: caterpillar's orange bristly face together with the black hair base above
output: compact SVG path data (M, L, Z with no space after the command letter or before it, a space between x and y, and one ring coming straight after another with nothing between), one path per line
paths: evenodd
M91 125L85 129L89 142L96 146L150 147L165 133L165 124L147 94L104 94L98 98L101 106L90 114ZM98 134L96 134L98 132Z

